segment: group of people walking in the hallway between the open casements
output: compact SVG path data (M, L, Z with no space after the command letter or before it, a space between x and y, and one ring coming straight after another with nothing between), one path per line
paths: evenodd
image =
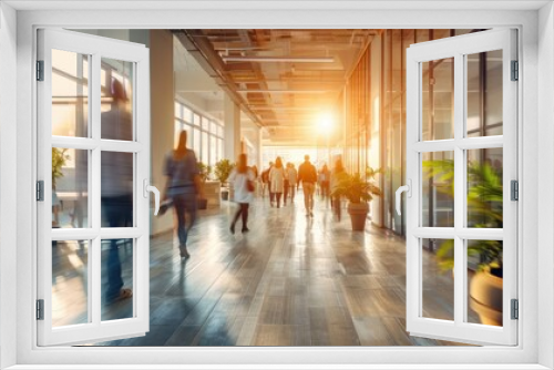
M194 151L186 147L186 131L181 132L177 148L166 155L164 173L167 176L167 182L163 194L163 204L170 204L175 208L178 248L183 258L189 257L187 237L196 220L197 198L204 197L196 155ZM316 166L311 164L309 155L305 155L304 163L300 164L298 171L293 163L284 165L281 157L278 156L275 163L270 162L269 167L259 176L261 196L265 197L267 189L270 206L280 208L281 199L284 206L287 205L287 201L290 203L295 201L295 194L301 185L306 216L314 217L314 195L317 184L319 184L321 195L328 197L331 194L331 188L343 174L346 172L340 160L337 161L332 173L327 168L327 165L318 173ZM257 179L257 171L248 166L246 154L240 154L228 177L234 189L233 201L237 204L229 225L232 234L235 234L239 218L242 233L249 232L248 210L255 197ZM332 203L339 205L338 216L340 217L340 199L332 199ZM188 214L188 224L186 223L186 214Z

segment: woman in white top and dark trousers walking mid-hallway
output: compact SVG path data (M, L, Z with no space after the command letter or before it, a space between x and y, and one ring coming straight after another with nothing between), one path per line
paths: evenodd
M252 168L248 167L246 154L238 156L238 162L229 175L229 183L233 184L235 189L234 201L238 204L237 212L233 217L229 230L235 234L235 225L238 217L243 216L243 233L248 233L248 207L254 199L254 181L256 176Z

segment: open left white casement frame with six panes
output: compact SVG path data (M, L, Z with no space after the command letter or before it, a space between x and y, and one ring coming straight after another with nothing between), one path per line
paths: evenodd
M39 260L38 297L44 301L44 319L39 325L39 343L52 346L82 343L100 339L142 336L150 328L150 210L143 186L150 184L150 54L141 44L112 40L73 31L41 29L38 31L39 58L44 62L44 81L38 92L38 179L44 182L44 201L37 204ZM84 137L52 135L52 50L88 55L89 134ZM131 141L102 138L101 133L101 62L103 58L131 62L133 65L133 137ZM84 228L52 228L52 147L89 151L89 225ZM133 155L133 226L101 227L101 156L106 152ZM101 243L132 239L133 316L102 321L101 317ZM81 325L52 326L52 240L86 240L88 316Z

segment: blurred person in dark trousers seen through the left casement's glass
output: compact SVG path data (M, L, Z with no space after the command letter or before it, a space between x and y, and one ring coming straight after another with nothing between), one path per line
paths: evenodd
M112 79L112 103L110 111L102 113L102 138L133 138L133 117L127 109L129 99L123 84ZM101 154L101 197L103 227L133 226L133 154L102 152ZM119 240L110 240L107 255L106 302L132 296L131 289L123 289Z

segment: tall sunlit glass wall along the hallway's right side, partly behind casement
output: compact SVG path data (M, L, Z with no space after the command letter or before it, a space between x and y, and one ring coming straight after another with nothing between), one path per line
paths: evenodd
M476 31L480 30L383 30L349 76L345 89L345 164L350 173L365 173L367 166L382 169L377 178L382 196L373 201L370 210L376 225L406 234L406 222L394 210L394 192L404 185L406 172L406 50L413 43ZM499 79L494 64L499 64L499 58L494 53L472 58L468 69L474 78L469 81L474 89L470 89L468 99L475 109L468 112L468 135L502 134L502 117L495 109L499 102L484 99L483 93L488 82ZM448 134L444 125L453 113L452 96L443 92L453 78L449 66L448 61L429 62L424 66L423 95L429 107L424 120L428 129L435 127L432 132L424 130L424 134L433 137ZM339 105L342 103L340 100ZM494 153L481 153L481 161L494 161L493 156ZM437 186L441 184L431 183L428 187L431 208L442 202L443 192ZM437 216L435 212L429 212L430 223L433 215Z

